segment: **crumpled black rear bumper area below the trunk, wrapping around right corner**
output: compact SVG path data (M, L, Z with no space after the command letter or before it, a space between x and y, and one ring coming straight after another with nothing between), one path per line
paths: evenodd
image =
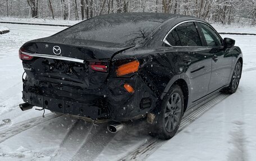
M125 91L124 84L127 82L134 87L134 93ZM25 86L30 85L26 84ZM56 94L57 91L55 90L54 93ZM22 91L22 99L24 102L53 112L93 120L110 119L118 122L145 117L156 105L156 95L139 75L135 76L134 79L109 79L106 88L102 91L104 93L100 92L101 96L99 94L95 95L96 93L73 95L70 99L60 96L61 93L51 95L47 90L39 93L24 90ZM89 96L92 96L90 100Z

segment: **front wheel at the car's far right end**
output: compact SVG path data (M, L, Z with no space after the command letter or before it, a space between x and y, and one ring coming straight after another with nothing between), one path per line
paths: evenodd
M236 92L241 79L241 73L242 73L241 62L238 61L235 65L234 72L232 74L232 78L230 81L230 85L224 90L225 93L233 94Z

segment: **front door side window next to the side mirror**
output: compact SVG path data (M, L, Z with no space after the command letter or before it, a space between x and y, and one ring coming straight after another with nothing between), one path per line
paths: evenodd
M202 30L202 33L204 35L204 38L206 40L206 43L209 47L221 47L221 39L220 37L209 27L208 25L205 25L203 23L198 23L200 26L200 30Z

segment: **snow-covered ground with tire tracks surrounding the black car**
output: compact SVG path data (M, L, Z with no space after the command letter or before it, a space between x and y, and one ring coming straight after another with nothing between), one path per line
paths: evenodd
M47 112L21 112L19 47L65 27L0 24L0 160L256 160L256 36L222 35L244 53L237 93L216 94L208 104L188 111L179 134L168 141L145 134L142 122L117 134L107 125ZM161 158L161 159L159 159Z

